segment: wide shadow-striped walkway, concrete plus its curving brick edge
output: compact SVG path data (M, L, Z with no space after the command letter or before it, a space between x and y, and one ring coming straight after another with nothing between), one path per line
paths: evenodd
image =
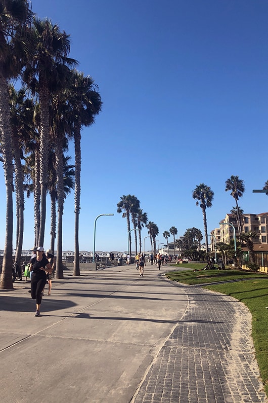
M81 274L37 318L29 282L0 290L1 403L268 401L242 303L151 265Z

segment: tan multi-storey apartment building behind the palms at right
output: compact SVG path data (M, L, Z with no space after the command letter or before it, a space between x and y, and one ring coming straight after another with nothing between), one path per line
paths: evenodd
M260 214L243 214L241 217L242 232L257 232L253 238L254 250L268 251L268 212ZM219 228L211 231L212 250L215 242L230 242L238 235L236 219L233 214L226 214L219 223Z

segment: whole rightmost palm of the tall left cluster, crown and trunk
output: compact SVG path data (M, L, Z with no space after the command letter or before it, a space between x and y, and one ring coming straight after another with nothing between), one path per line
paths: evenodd
M81 128L95 122L95 116L101 112L102 100L98 86L90 76L72 71L71 86L68 88L69 104L71 106L70 123L73 126L75 158L75 188L74 188L74 266L73 275L80 276L79 268L79 213L80 213L80 176L81 176Z

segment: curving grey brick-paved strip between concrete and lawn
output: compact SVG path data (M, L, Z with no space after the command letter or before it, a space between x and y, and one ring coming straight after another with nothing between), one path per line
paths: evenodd
M135 403L260 403L251 314L232 297L180 285L187 310L140 385Z

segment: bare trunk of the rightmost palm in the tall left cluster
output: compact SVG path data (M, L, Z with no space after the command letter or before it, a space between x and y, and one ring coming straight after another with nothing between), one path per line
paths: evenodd
M80 276L79 266L79 213L81 194L81 125L77 125L74 135L74 158L75 158L75 185L74 185L74 263L73 276Z

